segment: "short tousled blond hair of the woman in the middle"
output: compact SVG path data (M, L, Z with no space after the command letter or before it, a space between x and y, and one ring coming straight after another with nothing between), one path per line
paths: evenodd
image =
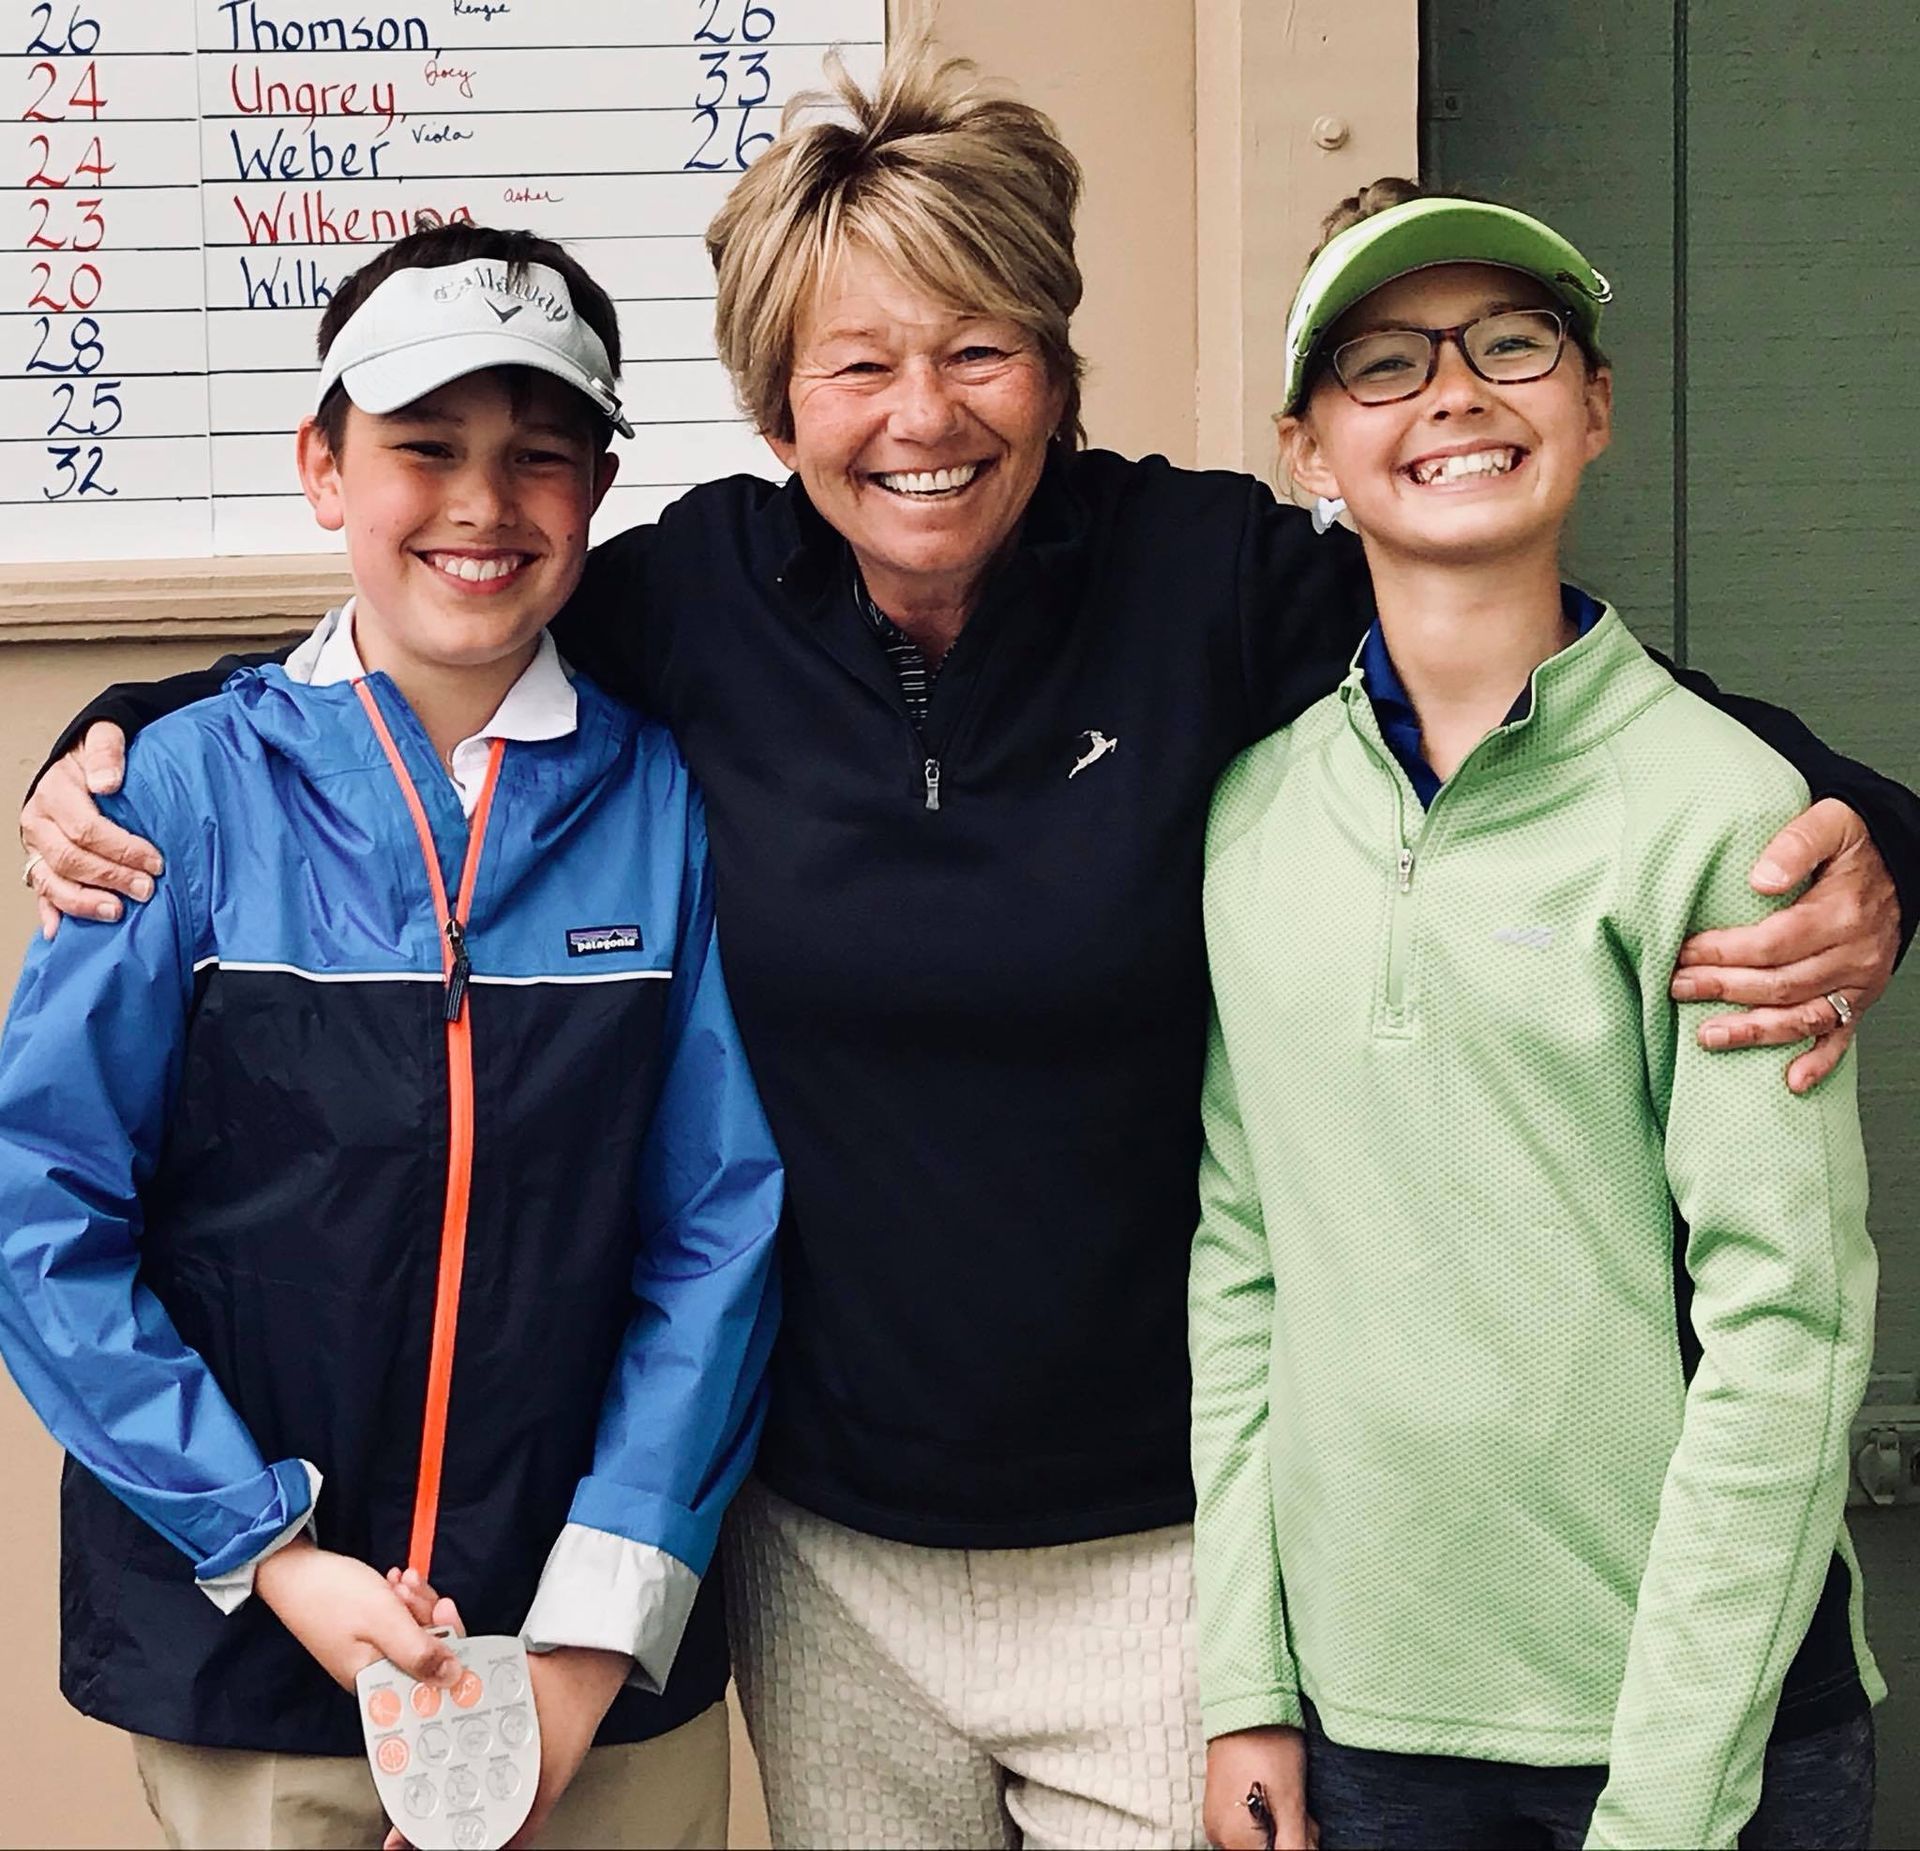
M1083 442L1083 361L1068 334L1081 169L1054 125L924 42L889 58L872 92L839 58L828 75L833 92L787 104L780 136L707 228L714 338L741 409L768 436L793 436L801 317L862 250L935 301L1025 328L1062 390L1056 440Z

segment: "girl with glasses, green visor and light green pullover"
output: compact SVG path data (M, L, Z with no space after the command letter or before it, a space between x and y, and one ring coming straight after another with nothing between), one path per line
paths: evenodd
M1667 993L1805 787L1561 582L1607 280L1405 182L1329 230L1281 436L1379 620L1206 849L1208 1830L1864 1845L1853 1062L1795 1096Z

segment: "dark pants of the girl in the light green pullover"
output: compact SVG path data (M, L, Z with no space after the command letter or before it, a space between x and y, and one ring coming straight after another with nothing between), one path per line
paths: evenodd
M1323 1851L1578 1851L1603 1767L1519 1767L1340 1747L1308 1711L1308 1813ZM1741 1851L1866 1851L1874 1822L1874 1719L1766 1749L1761 1805Z

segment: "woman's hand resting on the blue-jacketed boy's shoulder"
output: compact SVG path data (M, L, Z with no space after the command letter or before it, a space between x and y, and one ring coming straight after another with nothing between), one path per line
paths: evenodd
M127 735L109 720L96 720L73 751L48 766L19 812L27 885L48 939L61 914L111 922L121 916L121 895L154 897L163 868L159 851L108 822L96 801L117 791L125 774Z

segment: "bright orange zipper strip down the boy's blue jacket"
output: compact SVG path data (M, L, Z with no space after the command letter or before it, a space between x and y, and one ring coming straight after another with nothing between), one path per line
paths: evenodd
M440 1273L434 1281L434 1338L426 1361L426 1417L420 1425L420 1477L413 1490L413 1536L407 1542L407 1567L430 1580L434 1559L434 1528L440 1521L440 1473L447 1455L447 1398L453 1390L453 1336L461 1321L461 1269L467 1262L467 1208L474 1173L474 1043L467 1014L467 920L472 914L474 881L480 876L480 849L486 843L486 820L493 808L493 785L499 781L499 762L507 741L495 739L486 762L486 781L467 826L467 864L461 868L461 895L447 906L447 887L440 877L440 851L426 822L420 793L399 757L394 733L388 730L380 703L365 682L355 682L367 718L394 768L399 795L407 799L413 833L420 839L426 862L426 883L434 895L434 918L440 924L440 968L447 985L447 1196L440 1217Z

